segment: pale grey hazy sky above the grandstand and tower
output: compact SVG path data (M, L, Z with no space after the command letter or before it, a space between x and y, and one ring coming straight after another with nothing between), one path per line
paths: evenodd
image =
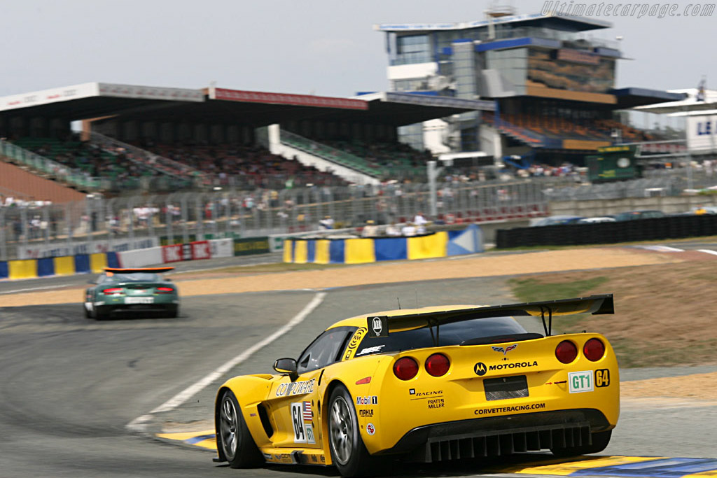
M569 0L568 0L569 1ZM589 4L584 0L581 3ZM602 2L607 5L607 2ZM351 96L385 91L381 23L484 19L488 0L0 0L0 96L85 82ZM503 1L519 14L542 0ZM599 2L597 2L599 5ZM615 2L617 4L617 1ZM691 1L676 3L676 12ZM666 5L650 4L650 5ZM617 87L717 89L712 16L595 16Z

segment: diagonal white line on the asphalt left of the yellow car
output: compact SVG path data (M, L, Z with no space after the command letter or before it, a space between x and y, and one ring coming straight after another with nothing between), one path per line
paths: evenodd
M286 325L284 325L282 328L277 330L275 333L272 333L272 335L269 335L267 338L262 340L259 343L256 343L255 345L252 345L252 347L245 350L243 353L237 355L236 357L232 358L232 360L229 360L227 363L224 363L224 365L217 368L217 370L213 371L212 373L209 373L206 377L202 378L200 381L192 384L191 386L185 388L183 391L177 393L174 397L170 398L168 401L162 403L157 408L154 408L149 414L139 416L138 418L134 419L133 421L130 421L129 424L127 424L128 429L132 430L139 430L142 431L144 429L144 424L146 424L147 421L149 421L152 418L152 414L158 414L162 411L170 411L174 410L174 408L177 408L182 403L186 402L191 398L192 396L196 395L196 393L199 393L203 388L206 386L209 386L212 382L218 380L221 378L224 373L227 373L229 370L234 368L236 365L239 365L239 363L242 363L244 360L247 360L247 358L250 358L250 356L255 353L260 348L265 347L266 345L269 345L277 338L280 338L282 335L287 333L289 330L293 329L296 325L299 325L313 310L320 305L321 302L323 302L323 298L326 297L326 292L318 292L314 296L314 298L309 302L306 307L301 310L293 319L291 319Z

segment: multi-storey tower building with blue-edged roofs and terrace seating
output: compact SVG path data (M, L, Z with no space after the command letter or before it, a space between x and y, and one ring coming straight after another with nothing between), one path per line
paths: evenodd
M511 163L584 166L597 148L653 139L624 125L618 111L680 100L675 92L615 87L617 42L592 37L611 27L576 16L517 15L510 7L488 11L483 21L381 24L394 92L433 97L480 98L495 112L464 113L400 129L417 149L482 150Z

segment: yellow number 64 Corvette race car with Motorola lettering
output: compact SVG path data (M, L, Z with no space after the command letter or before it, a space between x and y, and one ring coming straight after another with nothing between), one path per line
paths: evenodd
M602 451L619 415L617 359L598 333L551 335L552 319L612 314L612 295L499 306L391 310L336 322L277 375L217 393L217 462L414 462L550 449ZM512 316L543 320L545 336Z

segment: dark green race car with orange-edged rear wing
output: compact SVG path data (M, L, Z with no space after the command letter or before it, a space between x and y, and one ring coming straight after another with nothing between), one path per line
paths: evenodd
M161 274L174 267L118 269L105 267L105 273L85 291L85 317L103 320L112 312L163 312L179 315L179 292Z

